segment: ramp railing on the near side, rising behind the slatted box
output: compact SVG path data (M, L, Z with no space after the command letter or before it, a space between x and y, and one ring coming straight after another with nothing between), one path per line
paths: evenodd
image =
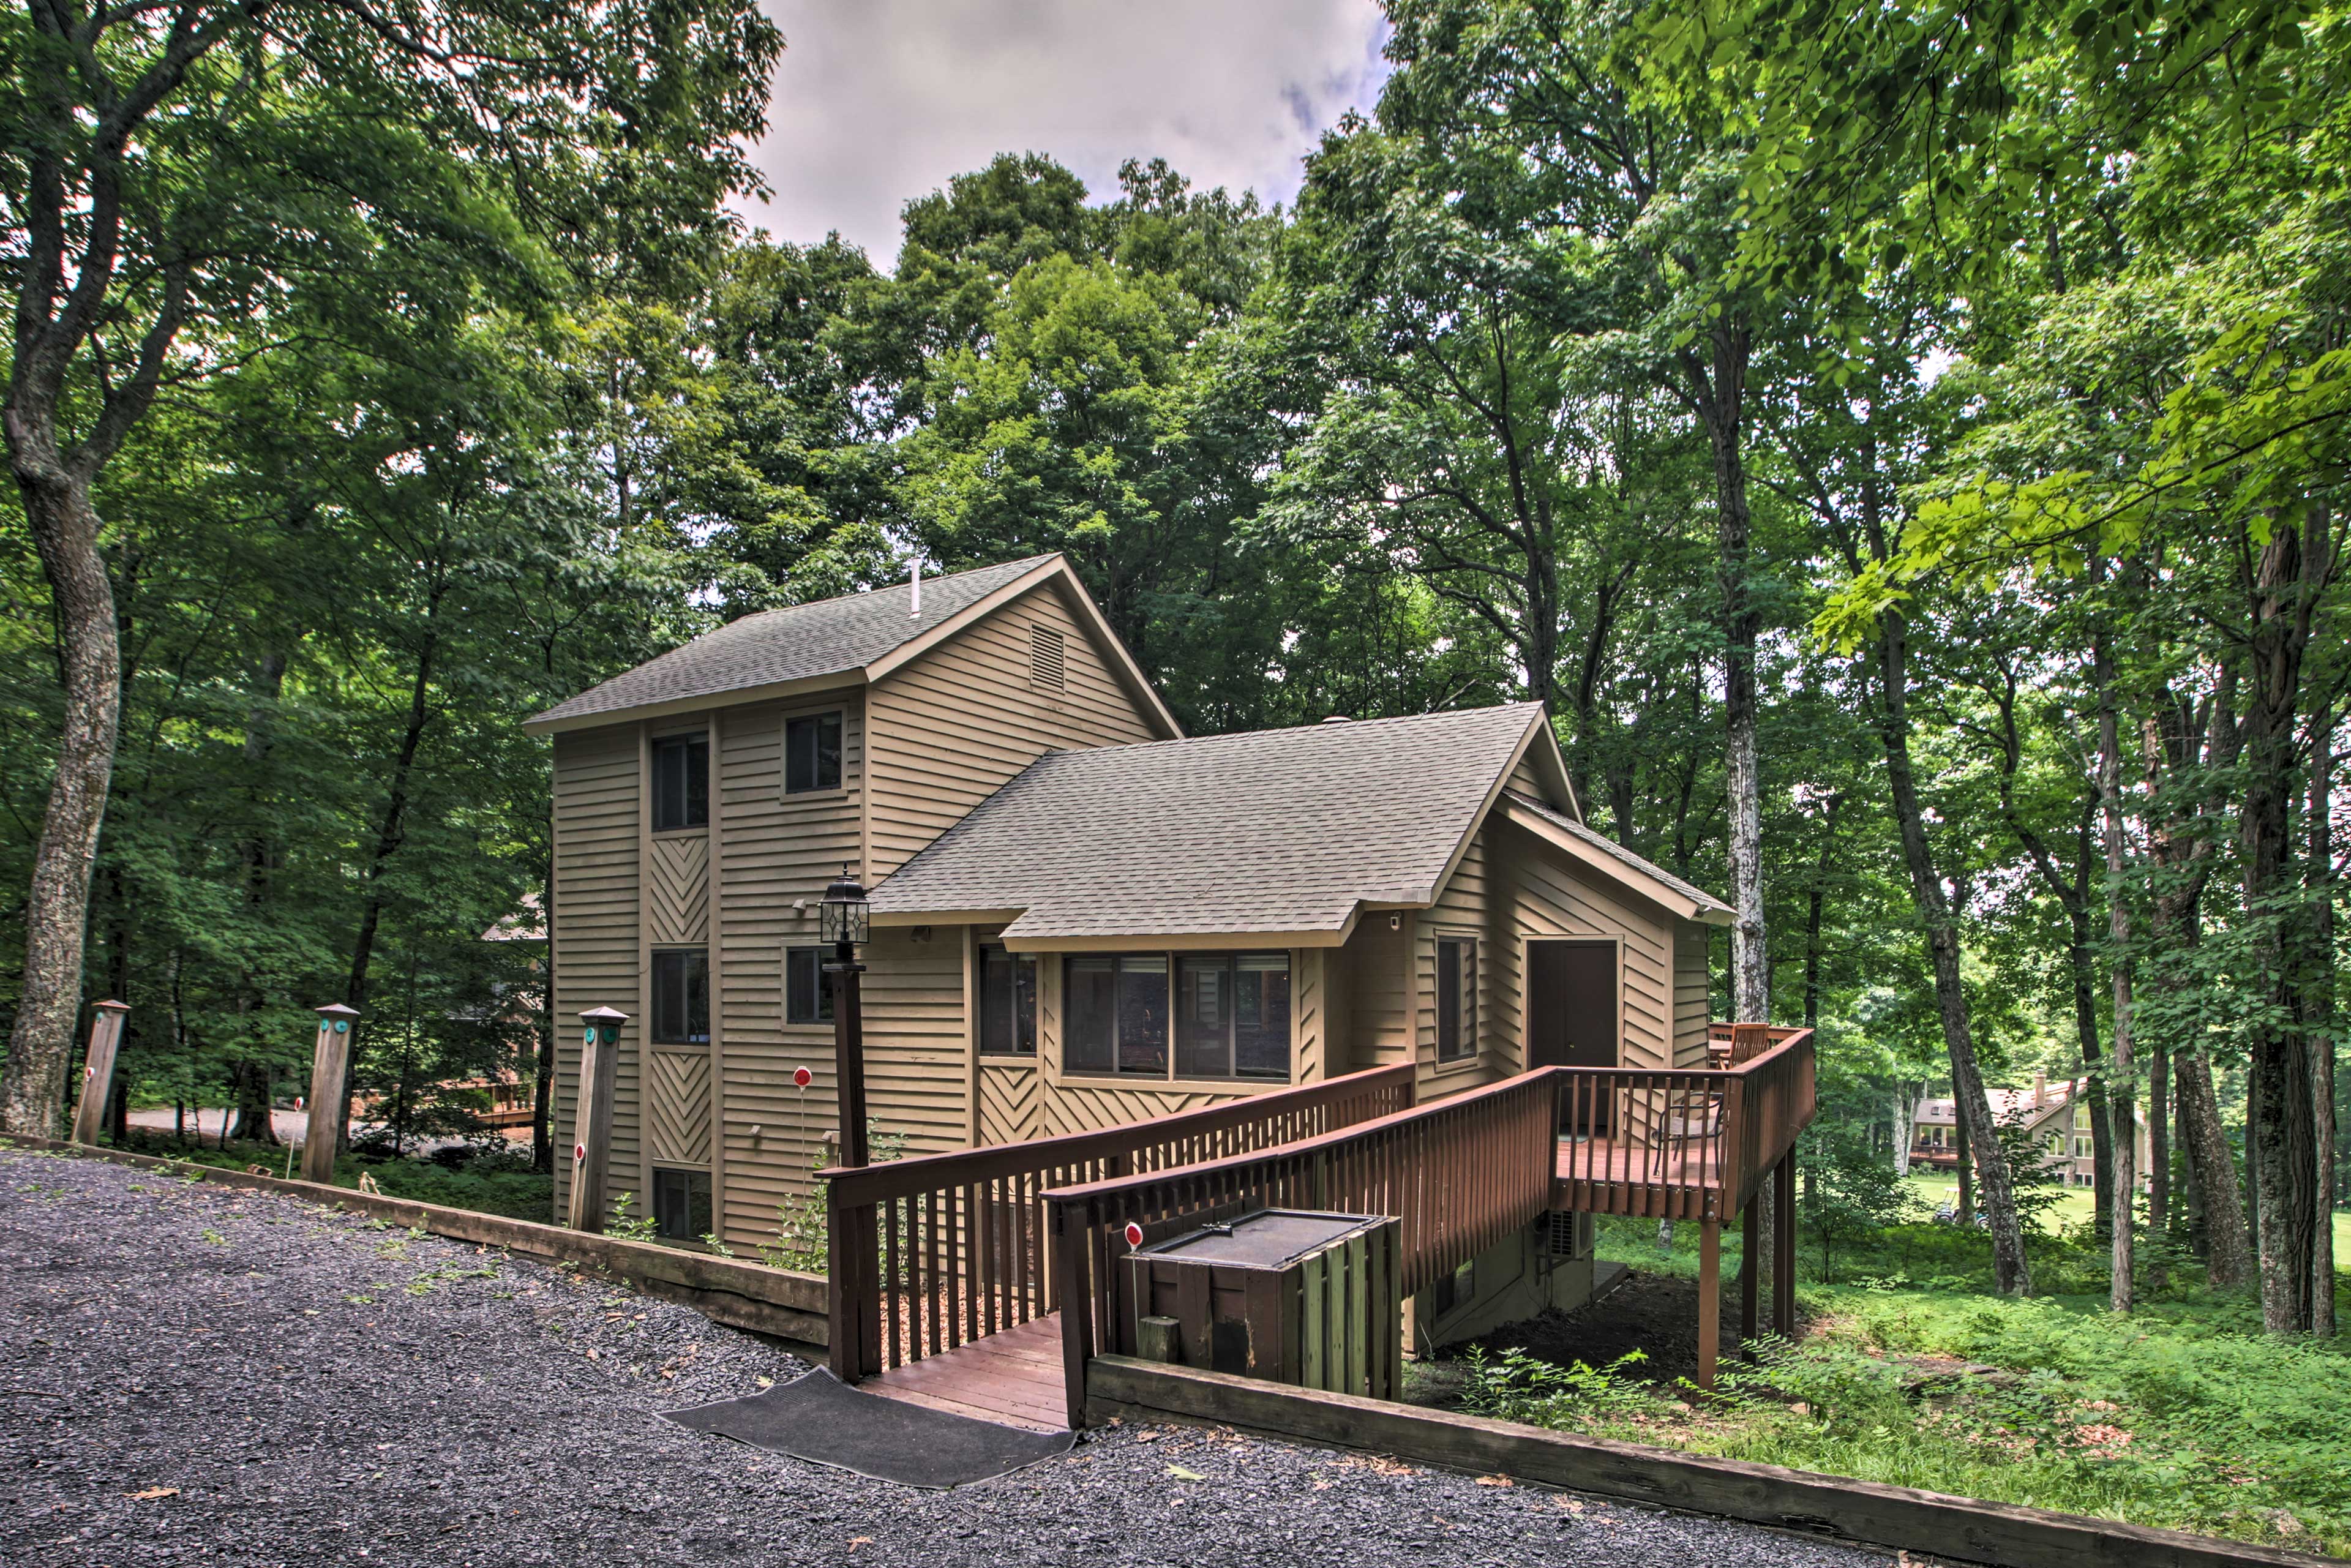
M1128 1225L1150 1229L1241 1201L1396 1215L1404 1291L1425 1291L1552 1206L1552 1072L1521 1072L1284 1147L1046 1192L1070 1425L1084 1413L1086 1361L1136 1349L1117 1267Z

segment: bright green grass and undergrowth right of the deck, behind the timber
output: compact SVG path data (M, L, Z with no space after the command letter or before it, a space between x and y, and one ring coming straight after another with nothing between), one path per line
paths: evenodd
M1921 1178L1914 1178L1921 1180ZM1942 1178L1923 1178L1942 1201ZM2074 1194L2067 1194L2074 1197ZM2088 1192L2081 1192L2088 1222ZM2071 1215L2062 1215L2071 1220ZM2342 1215L2337 1215L2342 1234ZM1723 1248L1737 1267L1735 1237ZM2034 1300L1991 1295L1991 1244L1895 1225L1822 1279L1799 1244L1810 1331L1730 1363L1716 1394L1641 1366L1561 1373L1523 1356L1472 1368L1465 1408L1535 1425L1893 1486L2351 1554L2351 1340L2262 1335L2250 1293L2172 1260L2144 1305L2106 1309L2104 1251L2029 1246ZM1601 1255L1693 1274L1697 1227L1601 1225ZM2351 1255L2351 1253L2339 1253ZM2351 1274L2337 1312L2351 1321Z

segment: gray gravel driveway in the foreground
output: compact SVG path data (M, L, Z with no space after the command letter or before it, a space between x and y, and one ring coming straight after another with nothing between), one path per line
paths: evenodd
M0 1154L5 1563L1886 1561L1227 1432L922 1493L656 1415L799 1371L494 1251Z

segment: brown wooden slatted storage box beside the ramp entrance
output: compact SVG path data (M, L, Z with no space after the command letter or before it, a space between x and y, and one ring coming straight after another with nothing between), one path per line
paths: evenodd
M1404 1222L1255 1208L1126 1255L1133 1345L1180 1366L1394 1399Z

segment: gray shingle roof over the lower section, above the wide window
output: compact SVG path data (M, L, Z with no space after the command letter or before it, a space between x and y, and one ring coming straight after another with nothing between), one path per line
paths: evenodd
M1006 936L1338 931L1427 903L1540 703L1049 752L872 893Z

